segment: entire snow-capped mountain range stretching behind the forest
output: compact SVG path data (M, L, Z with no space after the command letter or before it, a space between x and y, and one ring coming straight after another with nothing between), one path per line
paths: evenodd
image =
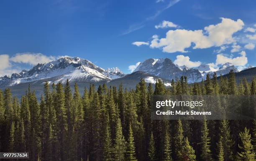
M81 90L90 83L95 86L102 83L106 83L107 86L119 86L123 83L124 87L134 88L141 78L146 83L153 84L157 79L161 79L165 86L171 86L171 80L180 78L182 75L187 76L188 83L194 83L205 79L207 73L213 75L216 72L217 75L225 75L231 69L238 72L231 63L225 63L217 70L207 64L201 64L197 68L188 68L175 65L169 58L150 58L140 63L133 73L124 74L117 67L105 70L83 58L64 57L49 63L37 64L30 70L22 70L20 73L0 77L0 88L10 87L20 93L22 90L25 91L24 88L30 84L31 87L40 91L45 81L50 84L65 83L67 79L71 84L78 83Z

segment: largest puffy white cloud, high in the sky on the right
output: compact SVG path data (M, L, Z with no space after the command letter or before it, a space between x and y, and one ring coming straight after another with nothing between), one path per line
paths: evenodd
M221 18L221 23L209 25L204 30L169 30L166 38L154 38L151 41L151 48L162 48L163 52L187 52L192 43L193 49L210 48L212 46L221 46L236 42L233 34L243 28L243 21L236 21L229 18Z

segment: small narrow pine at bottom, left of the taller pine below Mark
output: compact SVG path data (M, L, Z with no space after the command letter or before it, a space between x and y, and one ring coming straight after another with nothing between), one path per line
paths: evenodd
M162 161L172 161L172 156L171 156L171 141L170 141L170 136L168 131L165 131L164 134L164 147L163 147L163 153L164 156L162 158Z

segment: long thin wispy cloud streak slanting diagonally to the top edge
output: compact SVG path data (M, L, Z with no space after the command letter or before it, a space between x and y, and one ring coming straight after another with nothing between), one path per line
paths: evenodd
M163 13L165 10L167 10L168 8L172 7L173 5L175 5L176 3L178 3L180 0L171 0L167 6L165 6L164 8L161 8L160 10L157 10L156 13L153 16L150 16L148 18L146 18L145 20L143 20L141 23L136 23L133 25L130 25L129 28L127 30L125 30L121 35L126 35L129 33L132 33L136 30L139 30L141 28L143 28L145 26L145 23L149 20L154 20L156 17L158 17L161 13Z

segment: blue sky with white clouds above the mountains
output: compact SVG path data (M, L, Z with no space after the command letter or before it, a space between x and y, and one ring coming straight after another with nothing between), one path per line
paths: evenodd
M2 0L0 75L61 55L124 73L148 58L189 67L256 66L255 6L254 0Z

